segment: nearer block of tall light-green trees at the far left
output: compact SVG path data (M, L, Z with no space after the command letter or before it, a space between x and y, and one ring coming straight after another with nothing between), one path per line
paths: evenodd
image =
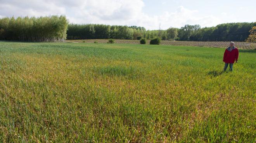
M6 17L0 19L1 40L64 42L68 21L65 16Z

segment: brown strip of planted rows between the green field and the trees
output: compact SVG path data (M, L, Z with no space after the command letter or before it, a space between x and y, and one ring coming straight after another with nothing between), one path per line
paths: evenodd
M77 43L107 43L108 39L89 39L89 40L66 40L66 42L77 42ZM146 44L149 44L150 40L147 40ZM140 40L121 40L116 39L116 43L120 44L140 44ZM162 40L161 45L174 45L174 46L197 46L197 47L225 47L227 48L229 42L216 42L216 41L209 41L209 42L200 42L200 41L169 41L169 40ZM256 49L256 43L253 42L235 42L235 46L238 49Z

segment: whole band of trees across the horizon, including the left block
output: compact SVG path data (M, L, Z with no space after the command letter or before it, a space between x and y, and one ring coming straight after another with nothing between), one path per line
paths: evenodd
M17 19L6 17L0 19L0 40L64 42L65 39L153 39L160 37L162 40L181 41L245 41L249 37L249 31L255 29L253 28L255 26L256 22L243 22L203 28L200 25L185 25L180 29L170 27L167 30L146 30L144 27L126 25L68 24L64 15L37 18L18 17Z

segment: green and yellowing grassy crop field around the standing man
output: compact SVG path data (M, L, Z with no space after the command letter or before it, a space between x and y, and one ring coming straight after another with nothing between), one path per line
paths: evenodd
M255 142L256 50L0 42L0 142Z

